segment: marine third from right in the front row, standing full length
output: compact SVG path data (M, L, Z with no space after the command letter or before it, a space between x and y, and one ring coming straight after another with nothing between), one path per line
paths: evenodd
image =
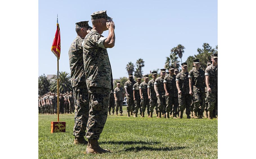
M186 108L187 118L190 119L191 95L189 94L189 81L187 62L181 64L182 71L176 76L176 87L178 89L179 98L179 118L183 118L183 111Z

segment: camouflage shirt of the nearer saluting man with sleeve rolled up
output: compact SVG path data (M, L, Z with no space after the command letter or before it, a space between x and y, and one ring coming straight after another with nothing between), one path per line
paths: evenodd
M103 45L106 38L92 29L84 39L84 70L87 88L91 86L113 89L113 77L107 49Z

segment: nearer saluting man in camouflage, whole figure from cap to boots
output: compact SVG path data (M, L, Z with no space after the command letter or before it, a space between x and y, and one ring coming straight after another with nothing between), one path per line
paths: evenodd
M86 153L109 152L100 148L98 140L107 120L109 94L113 89L112 70L107 48L115 45L115 25L106 11L91 15L93 29L84 38L84 70L89 91L89 118ZM107 38L101 34L109 30Z

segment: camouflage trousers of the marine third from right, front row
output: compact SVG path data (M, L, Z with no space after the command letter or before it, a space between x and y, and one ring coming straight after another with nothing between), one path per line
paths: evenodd
M186 108L186 114L190 114L192 96L190 94L179 94L179 110L184 111Z

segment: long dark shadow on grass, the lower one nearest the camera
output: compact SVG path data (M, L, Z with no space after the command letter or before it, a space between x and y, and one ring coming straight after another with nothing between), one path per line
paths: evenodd
M162 147L162 148L152 148L148 146L136 146L131 148L125 148L124 151L142 151L142 150L149 150L149 151L174 151L179 149L184 149L184 146L174 146L174 147Z

